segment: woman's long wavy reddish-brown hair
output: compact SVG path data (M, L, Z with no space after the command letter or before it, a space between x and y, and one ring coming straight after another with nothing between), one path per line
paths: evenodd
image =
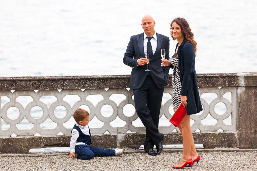
M197 45L197 43L194 40L194 34L192 33L186 19L183 19L181 17L175 18L172 22L170 22L170 30L171 30L171 25L174 22L176 22L180 26L181 32L184 34L184 40L186 42L190 42L194 45L194 53L196 55L196 50L197 50L196 45ZM171 35L173 40L176 40L176 38L174 38L171 33L170 33L170 35Z

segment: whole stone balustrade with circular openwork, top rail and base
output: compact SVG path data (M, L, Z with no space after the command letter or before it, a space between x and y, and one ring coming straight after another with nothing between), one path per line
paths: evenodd
M190 116L195 143L203 144L204 148L257 148L257 73L198 74L197 78L204 111L200 115ZM168 122L173 114L169 112L173 93L171 76L169 80L164 89L169 98L160 111L160 118L166 119L162 122ZM94 146L138 148L143 144L145 129L133 124L138 119L136 112L127 115L123 109L127 104L134 106L129 81L130 75L0 78L0 116L2 122L9 125L9 128L3 129L0 122L0 154L28 153L30 148L69 146L71 128L65 127L65 123L81 105L89 108L89 119L96 117L103 123L102 127L90 129ZM208 101L204 93L212 93L215 97ZM67 102L71 95L78 97L72 105ZM90 95L101 95L102 98L94 105L89 99ZM123 99L117 103L113 95L122 95ZM42 100L50 96L54 96L55 100ZM20 97L29 97L31 101L23 105ZM1 99L4 98L9 100L3 103ZM216 112L215 106L219 102L225 105L224 113ZM109 117L101 113L104 105L110 105L113 109ZM35 106L43 111L40 117L31 114ZM65 107L65 115L55 114L58 106ZM19 113L14 119L12 113L7 112L10 107L16 107ZM203 122L207 116L216 119L216 123ZM124 122L122 126L111 124L117 118ZM30 129L17 127L24 119L32 125ZM42 127L47 119L56 127ZM166 125L159 126L159 131L165 135L164 144L182 144L182 137L177 133L179 129L171 124ZM128 130L133 133L127 133ZM109 135L104 134L106 131ZM11 137L13 135L16 137Z

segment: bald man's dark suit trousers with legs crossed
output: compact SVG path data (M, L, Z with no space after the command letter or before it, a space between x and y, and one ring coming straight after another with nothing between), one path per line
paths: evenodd
M153 148L162 141L163 135L159 133L159 116L162 103L163 88L158 88L151 76L147 76L139 89L134 89L134 102L136 113L145 127L144 148Z

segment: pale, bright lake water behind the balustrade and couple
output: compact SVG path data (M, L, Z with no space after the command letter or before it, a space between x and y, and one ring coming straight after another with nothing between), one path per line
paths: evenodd
M171 55L176 41L169 23L175 17L188 21L198 43L197 73L256 72L256 7L254 0L1 1L0 76L130 74L122 59L130 36L143 32L145 14L154 17L156 32L170 37ZM224 106L217 106L217 111L224 111ZM65 113L62 108L55 112ZM106 115L110 112L111 108L103 109ZM27 127L26 121L20 125ZM2 129L7 128L2 120Z

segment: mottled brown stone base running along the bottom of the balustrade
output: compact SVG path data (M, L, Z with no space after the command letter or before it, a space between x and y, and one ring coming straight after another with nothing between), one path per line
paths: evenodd
M237 146L235 133L193 133L195 144L203 144L204 148L257 147L256 143L253 145L244 143L244 137L241 135L238 133L239 146ZM180 133L169 133L164 136L163 144L183 144ZM28 154L30 148L69 146L70 138L71 136L0 138L0 154ZM91 139L92 145L96 147L138 149L144 143L145 134L92 135ZM248 142L254 140L256 140L256 133L248 136Z

